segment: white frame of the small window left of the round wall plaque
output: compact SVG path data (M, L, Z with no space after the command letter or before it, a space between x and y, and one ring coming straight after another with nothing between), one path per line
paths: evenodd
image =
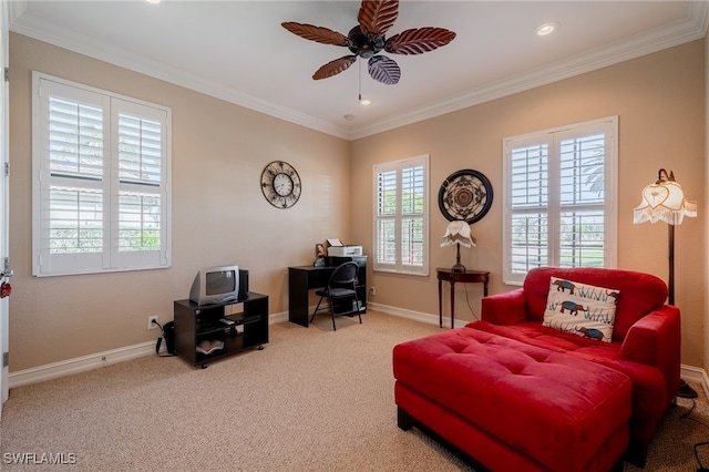
M415 276L429 275L429 208L430 208L430 156L428 154L408 157L399 161L391 161L381 164L374 164L372 167L372 189L373 189L373 205L372 205L372 270L384 271L393 274L407 274ZM421 186L417 187L422 193L421 204L422 211L420 213L403 214L402 211L402 174L404 170L411 170L413 167L422 166L423 175ZM394 199L394 214L380 215L379 202L383 197L379 192L379 176L382 173L395 173L395 199ZM404 217L421 218L421 264L404 264L402 253L404 252L404 242L402 239L402 226ZM380 248L384 243L380 242L379 237L379 224L384 220L391 220L394 224L394 261L380 260ZM410 245L411 246L411 245ZM411 253L414 249L410 249Z

